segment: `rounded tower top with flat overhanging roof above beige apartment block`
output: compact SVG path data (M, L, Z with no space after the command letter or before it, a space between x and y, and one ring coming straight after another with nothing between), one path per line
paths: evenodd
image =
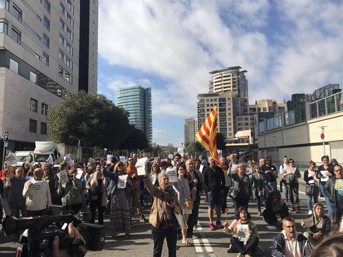
M245 73L240 71L241 66L220 68L210 72L212 80L209 81L210 93L238 93L240 97L248 97L248 80Z

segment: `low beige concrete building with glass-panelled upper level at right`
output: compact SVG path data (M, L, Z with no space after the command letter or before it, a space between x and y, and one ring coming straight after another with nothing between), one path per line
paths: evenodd
M286 113L258 124L258 158L267 155L296 164L313 160L320 165L326 154L343 163L343 97L339 84L329 84L313 94L294 94ZM323 131L323 129L324 131ZM321 133L324 132L324 140Z

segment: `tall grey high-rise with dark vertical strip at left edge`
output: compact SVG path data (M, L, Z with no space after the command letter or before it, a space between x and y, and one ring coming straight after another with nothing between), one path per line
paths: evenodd
M80 27L85 19L94 21L88 32ZM92 46L89 54L84 43ZM45 115L67 91L86 85L96 92L96 48L97 0L0 0L0 132L9 132L7 150L31 150L34 141L47 140ZM82 62L93 57L86 79L81 55Z

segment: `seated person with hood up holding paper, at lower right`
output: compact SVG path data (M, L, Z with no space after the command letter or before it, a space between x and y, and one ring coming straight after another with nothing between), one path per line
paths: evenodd
M304 236L315 246L331 232L331 221L327 215L324 215L324 205L316 203L313 206L313 226L309 227ZM301 226L305 223L301 222Z

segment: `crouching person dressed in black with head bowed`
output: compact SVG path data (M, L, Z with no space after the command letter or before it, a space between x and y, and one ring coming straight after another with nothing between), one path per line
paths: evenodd
M267 224L276 227L280 227L281 225L278 223L278 217L283 219L284 217L289 216L288 207L281 198L281 193L279 191L269 193L262 215Z

